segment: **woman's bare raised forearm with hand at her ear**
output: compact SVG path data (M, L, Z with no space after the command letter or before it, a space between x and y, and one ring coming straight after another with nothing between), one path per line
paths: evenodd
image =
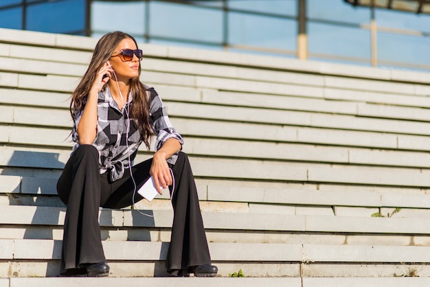
M89 91L87 104L85 104L84 111L82 112L78 127L76 128L79 144L92 144L97 136L98 93L102 90L104 84L109 81L111 71L111 66L106 63L95 77L94 84ZM107 77L103 78L105 74Z

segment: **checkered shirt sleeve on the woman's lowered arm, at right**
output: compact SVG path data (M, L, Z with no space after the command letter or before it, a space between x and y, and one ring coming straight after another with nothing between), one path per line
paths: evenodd
M157 139L155 141L155 152L163 146L163 144L170 138L177 139L181 143L181 150L183 145L183 138L174 129L170 123L166 108L161 101L161 97L153 88L147 88L146 92L150 97L150 119L152 122L152 128L154 130ZM168 163L176 163L178 153L172 155L167 161Z

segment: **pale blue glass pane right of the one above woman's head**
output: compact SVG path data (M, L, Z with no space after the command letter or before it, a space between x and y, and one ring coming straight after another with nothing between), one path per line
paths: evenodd
M150 36L222 43L223 11L151 2L149 29Z

